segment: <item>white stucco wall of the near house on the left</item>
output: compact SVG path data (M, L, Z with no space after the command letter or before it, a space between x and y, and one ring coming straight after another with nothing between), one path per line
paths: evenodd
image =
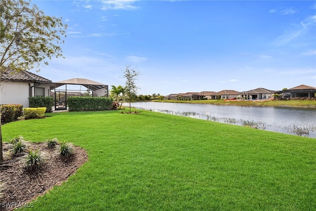
M31 86L34 83L30 83ZM37 87L45 88L45 96L49 96L49 85L40 84ZM4 82L0 86L0 104L22 104L23 108L29 107L30 86L25 82ZM34 88L32 88L34 96Z

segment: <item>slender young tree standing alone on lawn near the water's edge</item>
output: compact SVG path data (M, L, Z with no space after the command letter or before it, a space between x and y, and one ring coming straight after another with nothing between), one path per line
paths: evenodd
M137 97L137 91L139 87L136 84L137 77L139 76L139 72L135 69L129 69L130 65L126 66L125 70L122 70L124 73L123 78L125 78L125 96L126 100L129 102L129 113L130 111L130 103L134 101Z

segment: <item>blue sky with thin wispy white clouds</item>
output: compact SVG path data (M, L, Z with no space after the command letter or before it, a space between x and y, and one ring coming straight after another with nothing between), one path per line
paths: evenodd
M65 59L40 76L123 85L139 94L316 86L315 1L33 0L62 17Z

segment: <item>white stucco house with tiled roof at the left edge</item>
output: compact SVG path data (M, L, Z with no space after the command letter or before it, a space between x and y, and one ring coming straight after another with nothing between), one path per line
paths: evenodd
M49 96L52 81L29 71L8 69L1 75L0 104L22 104L29 107L29 97Z

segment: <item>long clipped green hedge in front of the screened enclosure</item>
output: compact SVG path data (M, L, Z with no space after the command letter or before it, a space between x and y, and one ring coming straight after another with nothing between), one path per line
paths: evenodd
M68 97L69 111L104 111L110 110L113 99L108 97Z

